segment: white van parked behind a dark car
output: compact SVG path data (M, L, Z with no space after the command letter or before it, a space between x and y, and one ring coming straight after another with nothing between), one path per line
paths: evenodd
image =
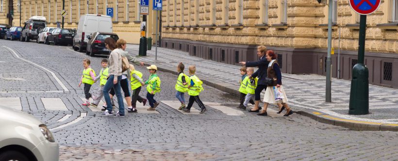
M80 52L86 49L88 36L94 32L111 32L112 33L112 17L103 15L82 15L80 16L76 35L73 38L72 48Z

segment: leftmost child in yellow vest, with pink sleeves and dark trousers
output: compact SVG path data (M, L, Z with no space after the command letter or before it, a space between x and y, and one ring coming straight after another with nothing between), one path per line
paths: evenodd
M96 79L95 71L93 69L91 69L89 59L87 59L87 58L83 59L83 66L84 66L83 76L80 79L78 87L80 87L82 85L82 83L84 84L84 95L86 98L86 102L83 103L82 105L90 106L90 97L95 99L95 97L90 94L90 88L91 88L91 85L93 85L94 82L97 81L97 79Z

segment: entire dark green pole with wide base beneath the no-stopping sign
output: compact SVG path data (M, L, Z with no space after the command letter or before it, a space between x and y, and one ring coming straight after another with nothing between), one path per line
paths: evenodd
M348 114L369 113L369 70L364 64L365 37L366 15L361 15L359 24L358 63L352 68Z

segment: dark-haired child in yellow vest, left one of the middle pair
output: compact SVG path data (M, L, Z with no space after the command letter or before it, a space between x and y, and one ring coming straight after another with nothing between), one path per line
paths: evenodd
M175 86L177 90L176 97L181 102L181 106L178 109L182 110L186 107L184 94L188 91L188 85L184 85L184 83L186 83L186 81L188 80L188 76L184 74L184 64L182 64L182 62L177 65L177 72L179 73L179 75Z

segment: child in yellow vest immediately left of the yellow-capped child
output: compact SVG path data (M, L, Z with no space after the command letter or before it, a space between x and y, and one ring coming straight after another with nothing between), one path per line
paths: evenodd
M130 76L131 76L131 89L133 90L133 96L131 100L132 108L127 109L127 112L129 113L136 113L137 112L137 107L136 103L137 100L138 102L142 102L145 106L147 104L147 99L139 96L141 87L145 85L145 82L142 81L142 73L138 70L135 70L135 67L133 64L130 64Z

